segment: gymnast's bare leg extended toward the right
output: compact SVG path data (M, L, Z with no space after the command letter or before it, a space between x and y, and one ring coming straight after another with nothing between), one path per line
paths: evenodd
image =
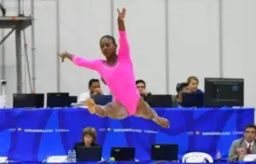
M145 119L150 119L153 122L159 124L163 128L170 127L169 121L157 115L154 109L152 109L143 98L139 99L135 116L140 116Z

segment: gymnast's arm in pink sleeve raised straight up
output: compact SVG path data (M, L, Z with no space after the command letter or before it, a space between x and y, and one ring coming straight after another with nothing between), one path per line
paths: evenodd
M119 58L121 59L130 59L130 48L125 31L125 21L124 18L119 16L118 18L119 26Z

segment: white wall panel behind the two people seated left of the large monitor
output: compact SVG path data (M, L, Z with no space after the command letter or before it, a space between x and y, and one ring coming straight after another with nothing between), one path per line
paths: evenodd
M197 76L219 76L218 1L169 1L169 76L175 92L177 82Z

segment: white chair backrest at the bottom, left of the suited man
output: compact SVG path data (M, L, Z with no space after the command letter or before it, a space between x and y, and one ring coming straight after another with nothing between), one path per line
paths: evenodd
M203 152L190 152L183 156L183 163L213 162L212 156Z

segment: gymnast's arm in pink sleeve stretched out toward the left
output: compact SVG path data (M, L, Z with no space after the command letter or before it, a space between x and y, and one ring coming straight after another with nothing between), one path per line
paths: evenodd
M64 59L67 58L67 59L71 60L75 65L89 68L91 70L97 70L98 65L100 63L99 59L89 60L89 59L84 59L79 56L75 56L73 54L68 54L68 53L61 54L61 58L62 58L62 61L63 61L63 58Z

